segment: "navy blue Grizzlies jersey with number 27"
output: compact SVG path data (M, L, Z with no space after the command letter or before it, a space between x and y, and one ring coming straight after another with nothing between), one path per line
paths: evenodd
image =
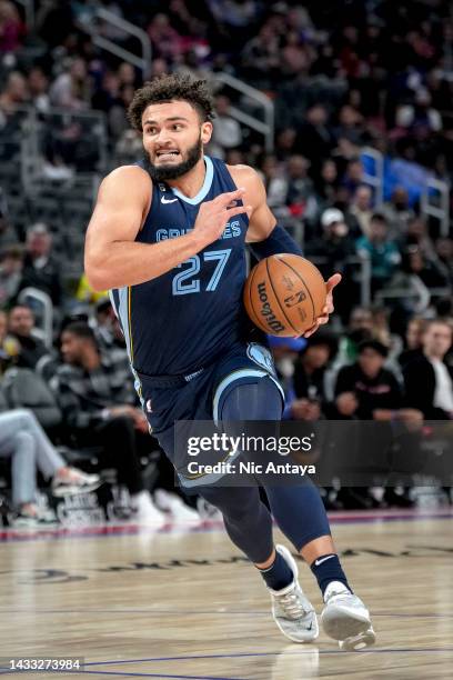
M203 201L236 189L223 161L204 161L204 183L194 198L153 183L151 209L135 241L158 243L188 233ZM245 213L235 216L219 240L179 267L111 291L135 371L190 374L240 340L248 224Z

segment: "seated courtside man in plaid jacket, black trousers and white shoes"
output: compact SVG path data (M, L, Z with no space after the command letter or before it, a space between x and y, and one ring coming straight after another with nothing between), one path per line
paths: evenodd
M118 470L128 488L137 519L162 526L164 518L144 489L140 454L152 450L148 421L135 404L124 350L99 349L87 323L69 323L61 334L64 363L51 386L69 432L78 446L102 447L102 462Z

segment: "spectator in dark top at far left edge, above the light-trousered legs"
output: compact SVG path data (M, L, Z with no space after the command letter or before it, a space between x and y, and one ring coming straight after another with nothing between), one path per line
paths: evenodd
M36 369L43 357L49 357L49 348L33 337L34 316L26 304L16 304L9 313L9 334L18 342L19 351L14 358L16 366Z

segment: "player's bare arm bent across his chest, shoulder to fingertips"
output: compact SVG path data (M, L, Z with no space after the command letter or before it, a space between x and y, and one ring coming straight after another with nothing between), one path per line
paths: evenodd
M151 181L139 167L124 166L102 182L87 231L84 268L94 290L135 286L178 267L215 241L229 219L248 208L238 189L203 203L192 232L159 243L135 242L151 204Z

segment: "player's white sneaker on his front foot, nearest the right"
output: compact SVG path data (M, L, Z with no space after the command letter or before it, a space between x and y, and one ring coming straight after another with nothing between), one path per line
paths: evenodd
M359 651L374 644L376 636L371 626L369 610L343 583L329 583L324 602L322 627L326 636L339 641L341 649Z

